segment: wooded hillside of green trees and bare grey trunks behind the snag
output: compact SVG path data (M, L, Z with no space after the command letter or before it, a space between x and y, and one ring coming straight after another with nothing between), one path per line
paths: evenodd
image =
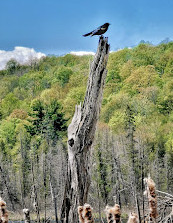
M66 130L84 99L92 56L45 57L0 71L0 194L8 207L60 213ZM111 53L89 203L145 205L143 178L173 193L173 43ZM48 212L48 213L47 213ZM58 217L58 216L57 216Z

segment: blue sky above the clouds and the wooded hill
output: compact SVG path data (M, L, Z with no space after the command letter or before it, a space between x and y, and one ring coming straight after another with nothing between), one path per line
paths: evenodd
M105 22L111 50L173 39L173 0L0 0L0 50L95 51L98 37L82 34Z

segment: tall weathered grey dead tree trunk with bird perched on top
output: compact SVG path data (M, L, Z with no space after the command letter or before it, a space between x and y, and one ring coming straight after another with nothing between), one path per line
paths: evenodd
M75 108L68 127L68 174L61 222L77 223L77 206L87 202L90 186L90 152L99 118L109 55L108 39L100 37L91 64L84 103Z

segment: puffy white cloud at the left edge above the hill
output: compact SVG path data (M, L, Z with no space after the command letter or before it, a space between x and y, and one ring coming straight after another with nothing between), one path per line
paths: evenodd
M44 53L36 52L33 48L16 46L12 51L0 50L0 70L3 70L6 63L15 59L20 64L28 64L34 59L46 56Z

